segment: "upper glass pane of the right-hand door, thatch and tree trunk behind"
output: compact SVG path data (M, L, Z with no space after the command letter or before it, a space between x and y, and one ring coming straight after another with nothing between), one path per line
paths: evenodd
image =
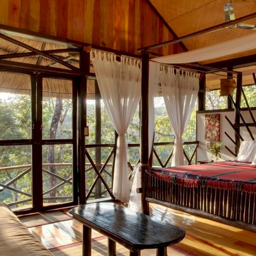
M42 138L72 138L72 81L44 78Z

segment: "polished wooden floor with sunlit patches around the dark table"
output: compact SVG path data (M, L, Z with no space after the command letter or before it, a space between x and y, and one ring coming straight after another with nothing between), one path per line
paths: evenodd
M216 221L151 204L151 215L186 230L185 238L175 246L195 255L256 255L256 233ZM29 230L47 247L54 248L81 241L82 225L62 221ZM101 234L92 232L96 238Z

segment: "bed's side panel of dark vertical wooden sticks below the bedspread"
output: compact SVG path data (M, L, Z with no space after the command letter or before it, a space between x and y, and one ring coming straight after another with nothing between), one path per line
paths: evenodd
M160 179L159 179L160 178ZM146 174L146 197L256 224L256 191L250 184L163 180Z

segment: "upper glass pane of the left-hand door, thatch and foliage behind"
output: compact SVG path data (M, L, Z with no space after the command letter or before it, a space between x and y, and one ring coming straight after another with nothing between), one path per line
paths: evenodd
M30 138L30 76L0 72L0 140Z

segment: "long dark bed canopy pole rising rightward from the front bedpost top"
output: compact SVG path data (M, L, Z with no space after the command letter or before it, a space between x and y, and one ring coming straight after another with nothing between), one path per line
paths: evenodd
M159 47L163 47L163 46L167 46L167 45L177 44L178 42L181 42L185 39L189 39L191 37L195 37L195 36L198 36L198 35L213 32L213 31L216 31L216 30L219 30L219 29L224 29L226 27L235 25L237 23L244 22L247 19L251 19L251 18L255 18L255 17L256 17L256 12L253 12L249 15L246 15L246 16L243 16L243 17L240 17L240 18L236 18L236 19L230 20L229 22L224 22L224 23L221 23L219 25L212 26L212 27L209 27L209 28L206 28L206 29L202 29L202 30L193 32L191 34L181 36L177 39L168 40L168 41L165 41L165 42L160 42L159 44L139 48L139 49L137 49L137 51L142 52L142 51L147 51L147 50L150 50L150 49L155 49L155 48L159 48Z

